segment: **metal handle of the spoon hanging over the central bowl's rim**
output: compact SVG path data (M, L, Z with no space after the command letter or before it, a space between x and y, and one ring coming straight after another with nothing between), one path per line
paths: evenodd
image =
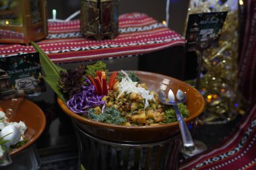
M195 144L189 132L189 128L187 128L187 124L184 122L183 117L181 116L178 105L174 104L173 107L177 116L177 120L179 122L183 146L187 151L193 151L195 149Z

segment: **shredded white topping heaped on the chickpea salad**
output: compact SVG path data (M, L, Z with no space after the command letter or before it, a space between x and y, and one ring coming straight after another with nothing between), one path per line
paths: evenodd
M122 78L122 81L119 83L119 95L117 96L117 99L123 94L123 93L139 93L143 99L145 99L145 105L144 109L148 108L148 101L150 99L154 99L154 95L150 94L150 91L144 89L143 87L137 87L137 82L131 81L130 77L125 73L125 71L122 71L122 73L125 75L125 77Z

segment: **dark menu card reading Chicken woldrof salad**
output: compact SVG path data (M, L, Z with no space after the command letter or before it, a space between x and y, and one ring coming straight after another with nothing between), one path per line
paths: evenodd
M45 91L38 52L0 58L0 99Z

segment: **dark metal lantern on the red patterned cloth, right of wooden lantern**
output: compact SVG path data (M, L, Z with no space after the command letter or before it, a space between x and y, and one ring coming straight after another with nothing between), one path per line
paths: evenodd
M118 0L82 0L80 32L96 40L118 34Z

